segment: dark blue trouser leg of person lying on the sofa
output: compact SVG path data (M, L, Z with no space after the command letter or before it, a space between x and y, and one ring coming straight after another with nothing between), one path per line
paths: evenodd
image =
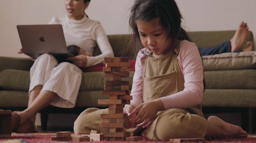
M201 53L202 56L231 52L231 44L230 41L226 41L215 47L199 48L199 52ZM241 52L241 50L239 49L234 52Z

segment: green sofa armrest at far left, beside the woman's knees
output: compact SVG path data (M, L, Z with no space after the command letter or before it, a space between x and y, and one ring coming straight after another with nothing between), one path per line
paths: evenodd
M34 61L29 58L13 58L0 56L0 72L5 69L15 69L29 71Z

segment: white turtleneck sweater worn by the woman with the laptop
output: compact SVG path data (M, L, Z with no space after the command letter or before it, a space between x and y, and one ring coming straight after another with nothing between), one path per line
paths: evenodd
M81 20L74 20L66 15L63 18L53 17L49 24L62 25L67 46L76 45L93 54L94 48L98 45L101 54L87 56L86 67L102 63L104 57L114 56L108 37L99 21L91 20L86 15Z

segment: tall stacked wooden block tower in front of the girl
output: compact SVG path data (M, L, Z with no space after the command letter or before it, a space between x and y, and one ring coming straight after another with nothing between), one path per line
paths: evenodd
M130 132L124 132L124 125L128 121L127 114L123 113L124 104L130 104L132 96L129 92L129 81L122 81L122 77L129 77L130 64L126 58L105 58L103 67L105 77L113 77L106 81L103 95L109 99L98 100L100 105L109 105L108 114L101 115L101 133L106 140L125 140Z

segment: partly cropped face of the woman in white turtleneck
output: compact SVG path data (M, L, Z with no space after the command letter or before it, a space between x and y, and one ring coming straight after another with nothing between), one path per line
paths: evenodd
M75 20L82 19L83 12L89 6L89 3L84 3L83 0L66 0L65 6L68 16Z

